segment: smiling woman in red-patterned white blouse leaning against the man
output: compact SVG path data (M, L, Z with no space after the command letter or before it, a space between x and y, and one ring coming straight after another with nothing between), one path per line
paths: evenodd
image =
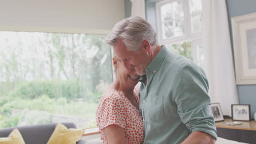
M140 78L135 70L127 71L123 62L112 58L116 79L101 97L97 109L97 126L103 143L142 143L144 130L139 113Z

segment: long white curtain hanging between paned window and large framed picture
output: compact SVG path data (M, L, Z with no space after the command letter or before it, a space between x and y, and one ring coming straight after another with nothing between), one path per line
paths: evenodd
M202 41L210 97L212 103L220 103L223 115L231 116L231 104L238 103L238 96L226 3L202 1L202 6Z

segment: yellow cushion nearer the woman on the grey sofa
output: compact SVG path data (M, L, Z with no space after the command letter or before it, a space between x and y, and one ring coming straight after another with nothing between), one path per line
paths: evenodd
M47 144L71 144L80 140L84 130L67 129L65 125L57 123L56 128Z

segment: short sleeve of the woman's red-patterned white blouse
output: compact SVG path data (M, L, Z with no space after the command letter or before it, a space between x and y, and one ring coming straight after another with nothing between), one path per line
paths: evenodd
M110 94L101 100L97 110L97 125L100 130L112 124L126 128L125 119L125 107L118 95Z

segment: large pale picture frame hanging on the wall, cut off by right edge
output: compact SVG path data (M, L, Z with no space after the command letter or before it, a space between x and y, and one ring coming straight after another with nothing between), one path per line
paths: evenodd
M237 85L256 84L256 13L231 18Z

